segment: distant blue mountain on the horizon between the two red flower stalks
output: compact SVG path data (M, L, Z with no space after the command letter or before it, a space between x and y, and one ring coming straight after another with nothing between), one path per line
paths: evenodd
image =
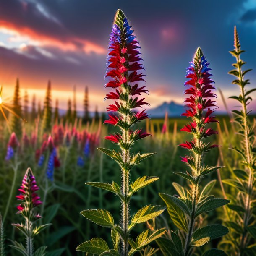
M168 116L176 117L180 116L184 112L184 107L182 104L177 104L174 101L170 103L164 102L158 107L149 109L147 112L150 118L163 118L165 116L165 112L168 112Z

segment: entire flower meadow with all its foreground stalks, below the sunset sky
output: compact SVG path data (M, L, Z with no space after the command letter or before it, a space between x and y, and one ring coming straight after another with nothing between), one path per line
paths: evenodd
M64 116L58 104L53 112L50 82L43 111L21 105L18 80L12 104L1 87L1 256L256 255L256 118L248 105L256 89L245 87L250 70L236 27L229 74L241 109L227 116L214 113L216 88L198 47L184 113L149 119L133 32L119 9L105 76L114 89L108 117L89 117L87 89L81 118L70 100Z

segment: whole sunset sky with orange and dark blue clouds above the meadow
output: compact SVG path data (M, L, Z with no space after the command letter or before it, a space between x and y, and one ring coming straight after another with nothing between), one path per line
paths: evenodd
M0 84L13 94L18 77L43 102L47 81L65 109L76 85L78 109L89 87L90 110L103 111L108 39L115 12L121 8L135 30L146 68L147 101L152 107L183 102L188 62L200 46L217 88L225 97L237 94L227 72L235 59L233 27L238 28L243 60L256 87L255 0L0 0ZM253 94L254 98L256 94ZM219 97L220 109L223 104ZM228 100L229 107L236 105ZM256 110L256 100L251 104Z

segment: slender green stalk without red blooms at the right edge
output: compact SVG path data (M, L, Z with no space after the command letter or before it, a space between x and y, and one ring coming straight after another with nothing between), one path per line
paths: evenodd
M242 161L241 165L244 166L243 170L235 169L234 174L236 180L224 180L224 183L235 187L238 191L237 196L232 201L230 208L233 212L232 222L228 222L232 228L232 246L236 253L235 255L253 255L255 254L256 246L253 246L256 239L256 225L255 225L255 212L253 207L255 207L255 170L256 170L256 148L255 143L255 133L253 129L255 128L255 123L251 124L248 118L247 107L249 102L252 100L250 94L256 91L256 88L246 91L245 86L249 83L248 79L245 79L245 75L251 69L242 70L242 67L246 62L241 60L240 55L243 50L241 50L240 41L238 37L238 32L236 27L234 29L234 47L230 53L235 57L236 63L232 64L235 67L234 70L230 71L229 74L236 77L232 82L237 84L240 88L240 95L230 97L237 100L241 104L241 110L232 110L235 114L235 123L239 126L239 131L237 134L241 136L241 144L238 148L233 148L238 154L241 155ZM250 246L251 245L251 246Z

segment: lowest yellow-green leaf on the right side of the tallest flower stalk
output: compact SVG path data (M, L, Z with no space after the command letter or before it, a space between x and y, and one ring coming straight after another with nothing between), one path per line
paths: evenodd
M149 229L141 232L136 238L135 243L133 243L132 249L129 251L128 256L133 255L136 251L141 250L144 246L161 237L165 231L165 228L162 228L153 233L151 233Z

